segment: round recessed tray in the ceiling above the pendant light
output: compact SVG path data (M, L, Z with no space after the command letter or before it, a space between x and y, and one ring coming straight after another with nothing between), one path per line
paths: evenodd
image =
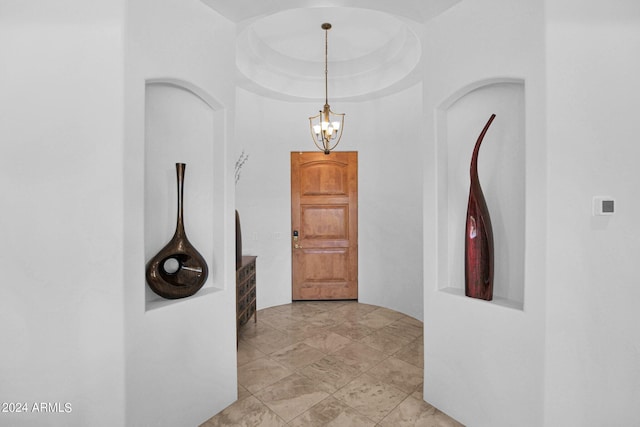
M389 14L354 8L292 9L254 21L239 32L236 65L241 82L300 100L324 94L318 22L336 22L329 34L329 92L348 99L378 92L406 78L419 64L421 44L407 23ZM296 22L288 26L288 22ZM337 51L337 53L334 53ZM337 57L338 60L331 60Z

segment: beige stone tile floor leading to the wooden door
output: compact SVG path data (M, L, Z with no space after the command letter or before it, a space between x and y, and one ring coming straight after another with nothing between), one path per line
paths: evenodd
M422 322L346 301L258 311L240 331L238 400L201 427L462 426L422 399Z

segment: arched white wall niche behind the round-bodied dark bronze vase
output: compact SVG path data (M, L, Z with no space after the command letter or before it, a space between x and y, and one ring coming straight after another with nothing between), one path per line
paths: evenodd
M176 226L176 163L185 163L184 222L189 241L205 258L209 276L193 296L167 300L145 283L145 310L198 298L224 288L223 156L225 111L202 88L179 79L145 84L144 251L148 262L166 245Z

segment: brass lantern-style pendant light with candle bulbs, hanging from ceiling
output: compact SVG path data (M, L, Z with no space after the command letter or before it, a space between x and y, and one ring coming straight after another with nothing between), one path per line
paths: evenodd
M325 22L321 27L324 30L324 107L319 114L309 117L309 126L316 147L324 151L324 154L329 154L331 150L336 148L340 138L342 138L344 113L334 113L329 107L327 56L329 50L328 34L331 24Z

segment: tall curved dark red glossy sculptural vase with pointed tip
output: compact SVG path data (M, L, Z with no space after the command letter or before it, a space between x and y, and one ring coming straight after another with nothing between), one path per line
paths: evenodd
M493 299L493 229L487 202L478 180L478 152L495 117L495 114L491 115L473 148L464 242L465 295L487 301Z

